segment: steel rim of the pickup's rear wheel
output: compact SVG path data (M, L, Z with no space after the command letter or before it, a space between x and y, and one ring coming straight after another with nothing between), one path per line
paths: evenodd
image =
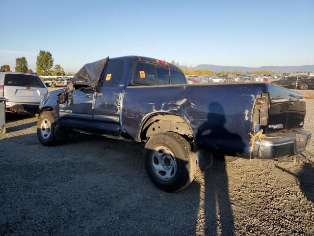
M174 154L166 147L155 148L151 156L152 168L155 175L164 181L169 181L177 173L177 162Z

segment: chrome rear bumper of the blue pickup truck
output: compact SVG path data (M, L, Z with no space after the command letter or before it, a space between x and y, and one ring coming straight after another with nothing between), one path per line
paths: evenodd
M283 156L300 154L310 143L312 133L300 130L277 137L266 137L255 142L253 158L275 159Z

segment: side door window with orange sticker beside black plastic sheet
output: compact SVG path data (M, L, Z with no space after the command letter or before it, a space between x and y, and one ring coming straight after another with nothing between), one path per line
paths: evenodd
M102 83L103 88L113 87L119 84L124 65L125 65L125 60L109 60L108 61L108 64L106 66L105 73L103 76L103 83Z

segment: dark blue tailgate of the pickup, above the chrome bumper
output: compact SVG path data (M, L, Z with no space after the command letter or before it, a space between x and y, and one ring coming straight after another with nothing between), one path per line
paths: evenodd
M269 100L267 133L303 128L305 99L302 94L269 86Z

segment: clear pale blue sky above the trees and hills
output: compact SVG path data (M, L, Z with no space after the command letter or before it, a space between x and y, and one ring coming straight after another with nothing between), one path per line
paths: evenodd
M76 72L138 55L182 65L314 64L314 0L0 0L0 65L39 50Z

